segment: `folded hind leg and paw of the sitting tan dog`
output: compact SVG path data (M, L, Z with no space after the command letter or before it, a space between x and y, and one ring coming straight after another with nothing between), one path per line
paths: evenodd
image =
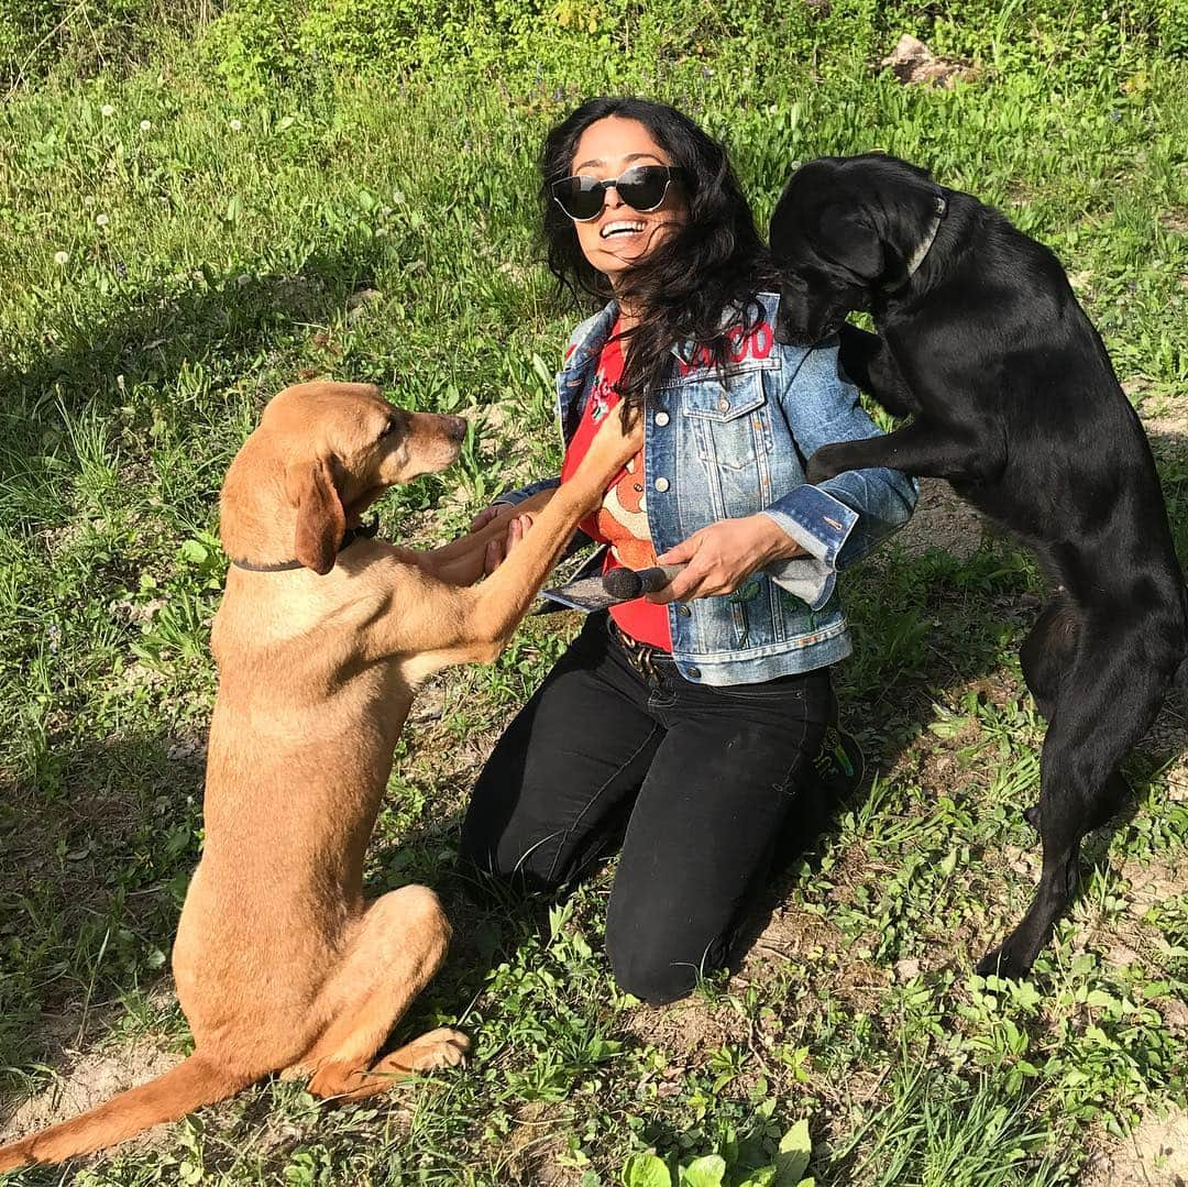
M326 987L333 1021L291 1069L311 1074L309 1090L314 1096L369 1096L383 1092L392 1074L461 1061L468 1046L466 1036L442 1030L431 1033L441 1036L438 1046L449 1047L438 1052L437 1062L428 1047L400 1061L405 1052L430 1038L426 1035L372 1067L375 1052L441 967L449 937L449 922L437 896L425 886L402 886L368 904ZM456 1057L451 1057L454 1053ZM419 1061L422 1056L424 1061ZM373 1080L371 1072L387 1074Z

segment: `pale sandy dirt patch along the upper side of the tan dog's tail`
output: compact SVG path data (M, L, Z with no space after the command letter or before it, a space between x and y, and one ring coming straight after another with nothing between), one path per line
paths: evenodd
M0 1126L0 1142L10 1142L76 1117L179 1062L181 1056L176 1052L166 1050L151 1040L107 1052L78 1053L49 1087L30 1097Z

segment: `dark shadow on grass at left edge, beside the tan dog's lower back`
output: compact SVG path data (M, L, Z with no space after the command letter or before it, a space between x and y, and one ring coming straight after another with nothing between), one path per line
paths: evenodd
M0 815L0 1084L17 1097L21 1071L61 1072L139 1011L168 1012L146 993L198 845L202 769L175 739L50 746L40 781L14 787Z

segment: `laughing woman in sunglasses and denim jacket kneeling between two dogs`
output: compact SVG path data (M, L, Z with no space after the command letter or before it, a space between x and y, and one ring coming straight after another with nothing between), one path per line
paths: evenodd
M720 145L670 107L595 99L549 133L542 166L550 269L609 298L557 378L562 476L604 416L638 411L644 448L582 526L606 567L684 568L587 620L492 752L462 853L552 889L621 833L607 952L624 990L662 1003L726 961L836 720L836 573L916 490L881 469L805 485L815 449L877 430L835 341L776 340L778 277ZM476 525L506 517L513 545L516 505L555 486Z

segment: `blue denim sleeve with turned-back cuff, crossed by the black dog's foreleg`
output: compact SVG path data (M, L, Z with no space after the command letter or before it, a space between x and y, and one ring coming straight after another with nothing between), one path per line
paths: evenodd
M858 389L838 368L838 340L810 349L784 383L779 403L801 455L822 446L858 441L879 430L858 402ZM804 550L769 566L767 575L820 610L838 573L902 528L915 510L920 487L895 469L860 469L810 486L804 482L764 509Z

